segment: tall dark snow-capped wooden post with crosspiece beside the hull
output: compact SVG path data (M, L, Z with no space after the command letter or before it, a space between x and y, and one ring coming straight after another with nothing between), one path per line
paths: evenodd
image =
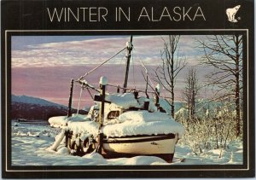
M104 108L105 108L105 96L106 96L106 85L108 84L108 78L101 77L100 79L100 89L101 89L101 98L102 98L102 104L100 108L100 125L99 125L99 134L98 134L98 147L96 149L96 152L99 154L102 154L102 142L103 142L103 132L102 132L102 126L104 122Z

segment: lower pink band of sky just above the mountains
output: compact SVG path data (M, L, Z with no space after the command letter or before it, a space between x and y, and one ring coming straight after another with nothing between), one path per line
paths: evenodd
M92 69L93 66L68 66L68 67L14 67L12 68L12 94L36 96L51 102L67 105L71 78L78 79L81 75ZM107 65L98 69L95 74L89 75L86 80L98 87L101 76L108 77L108 83L113 85L123 84L124 68L122 65ZM140 67L136 67L138 70ZM144 90L143 77L140 71L136 71L133 78L131 69L129 86ZM109 88L108 88L109 89ZM73 105L77 106L79 99L79 84L74 85ZM96 93L92 91L92 93ZM92 104L87 90L83 91L82 104Z

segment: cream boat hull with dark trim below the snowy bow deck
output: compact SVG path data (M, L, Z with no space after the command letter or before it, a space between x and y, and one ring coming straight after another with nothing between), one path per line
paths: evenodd
M106 158L150 155L172 162L176 142L174 134L124 136L105 138L102 146Z

